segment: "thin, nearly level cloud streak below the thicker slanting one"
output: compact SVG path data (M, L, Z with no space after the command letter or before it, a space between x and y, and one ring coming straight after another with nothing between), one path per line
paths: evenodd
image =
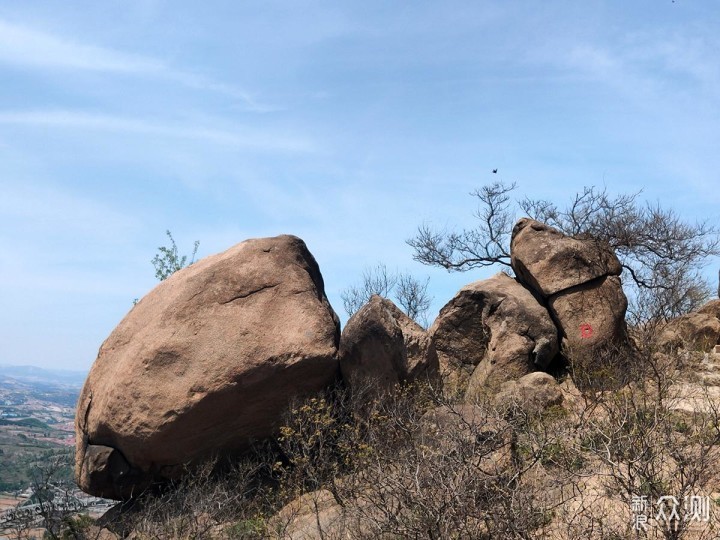
M316 150L313 142L305 137L267 133L257 128L238 127L234 130L227 130L214 127L150 122L145 119L72 110L0 111L0 124L135 133L205 141L259 151L308 153Z

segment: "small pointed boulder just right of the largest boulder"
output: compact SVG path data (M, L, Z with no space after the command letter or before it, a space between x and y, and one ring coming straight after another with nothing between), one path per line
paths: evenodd
M365 393L434 377L438 357L427 332L390 300L373 295L348 321L340 338L340 371Z

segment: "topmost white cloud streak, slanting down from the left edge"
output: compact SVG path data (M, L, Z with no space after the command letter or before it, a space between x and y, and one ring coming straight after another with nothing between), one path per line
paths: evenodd
M188 88L223 94L243 102L247 110L270 112L277 107L261 103L249 92L178 69L144 55L128 54L48 34L0 20L0 63L35 69L82 70L135 74L175 81Z

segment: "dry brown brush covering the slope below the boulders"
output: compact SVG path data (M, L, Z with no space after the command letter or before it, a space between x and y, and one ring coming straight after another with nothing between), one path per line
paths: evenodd
M125 530L147 538L717 538L714 502L708 522L686 519L684 507L670 527L655 520L661 497L718 491L717 404L705 396L696 410L678 406L688 360L636 347L569 364L563 387L575 380L582 392L546 410L499 408L492 396L459 404L429 384L384 394L338 387L299 401L275 446L230 471L200 468L148 493L124 513ZM633 526L639 497L647 530Z

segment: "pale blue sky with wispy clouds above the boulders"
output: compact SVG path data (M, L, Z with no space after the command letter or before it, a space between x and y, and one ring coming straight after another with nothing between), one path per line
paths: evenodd
M366 266L430 276L432 318L494 271L405 240L498 178L720 223L714 0L8 1L0 81L5 364L89 367L166 229L200 256L296 234L341 315Z

